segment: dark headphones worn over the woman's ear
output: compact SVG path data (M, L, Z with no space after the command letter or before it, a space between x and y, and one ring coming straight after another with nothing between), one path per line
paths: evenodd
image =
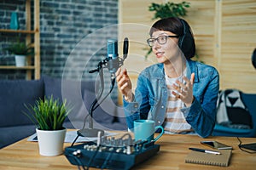
M189 56L190 48L195 46L194 37L189 30L189 25L186 21L179 19L180 22L183 24L183 36L179 37L178 39L178 47L182 50L183 54L187 57Z

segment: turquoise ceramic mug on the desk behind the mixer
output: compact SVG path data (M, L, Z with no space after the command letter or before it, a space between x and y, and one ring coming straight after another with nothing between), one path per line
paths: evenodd
M136 120L134 123L134 137L135 140L158 140L164 133L164 127L156 126L152 120ZM161 133L154 139L154 132L161 129Z

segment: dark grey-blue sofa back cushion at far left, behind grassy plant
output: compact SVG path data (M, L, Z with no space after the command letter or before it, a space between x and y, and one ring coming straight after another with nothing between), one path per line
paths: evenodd
M0 127L33 124L24 114L26 106L34 105L36 99L44 96L41 80L1 80L0 81Z

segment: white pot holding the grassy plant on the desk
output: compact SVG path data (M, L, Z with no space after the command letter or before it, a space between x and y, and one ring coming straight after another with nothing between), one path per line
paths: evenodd
M39 130L38 146L41 156L59 156L63 153L63 144L65 140L67 129L46 131Z

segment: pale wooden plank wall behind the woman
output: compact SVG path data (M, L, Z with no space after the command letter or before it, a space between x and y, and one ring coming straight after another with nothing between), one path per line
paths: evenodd
M148 60L146 39L155 20L148 11L151 3L166 1L120 0L119 37L131 37L131 48L125 67L131 72L134 88L138 73L155 63L151 54ZM173 3L182 1L173 0ZM256 48L255 0L189 0L188 16L184 17L195 35L197 54L207 65L215 66L220 74L220 88L238 88L256 93L256 70L251 62ZM127 26L125 26L125 24Z

